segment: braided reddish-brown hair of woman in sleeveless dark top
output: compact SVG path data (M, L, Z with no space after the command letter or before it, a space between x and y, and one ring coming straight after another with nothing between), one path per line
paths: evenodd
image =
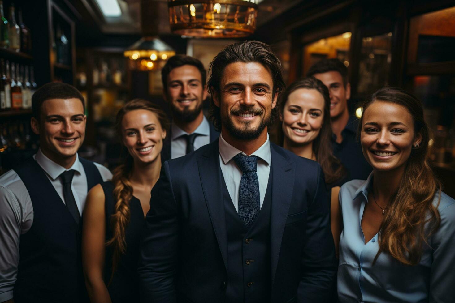
M150 110L152 113L157 115L158 121L160 122L163 130L167 130L169 128L169 120L167 119L164 111L157 104L144 99L133 99L123 105L116 116L115 129L120 139L123 136L121 129L123 117L126 113L136 109ZM130 182L132 169L133 158L128 152L126 152L124 164L117 166L112 172L112 183L114 184L113 195L116 203L114 205L114 213L110 218L113 237L106 242L106 245L112 246L114 249L112 256L112 273L109 283L112 281L113 274L116 271L121 255L124 254L126 250L125 229L130 222L129 203L133 195L133 187Z

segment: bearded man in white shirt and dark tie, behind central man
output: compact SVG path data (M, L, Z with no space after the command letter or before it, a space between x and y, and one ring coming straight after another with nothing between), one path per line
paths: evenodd
M207 89L201 61L186 55L173 56L161 70L161 78L163 96L172 113L171 129L161 152L164 162L215 141L219 132L202 113Z

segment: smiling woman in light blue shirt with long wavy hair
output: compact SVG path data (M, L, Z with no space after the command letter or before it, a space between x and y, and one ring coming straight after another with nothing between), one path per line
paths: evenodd
M373 172L341 187L340 302L455 302L455 200L428 164L420 101L379 89L363 106Z

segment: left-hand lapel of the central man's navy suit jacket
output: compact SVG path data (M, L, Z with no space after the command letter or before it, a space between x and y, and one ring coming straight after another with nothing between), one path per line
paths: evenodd
M212 220L218 246L227 269L227 231L224 203L222 197L221 168L218 151L218 140L212 142L211 149L197 158L202 191L207 209Z

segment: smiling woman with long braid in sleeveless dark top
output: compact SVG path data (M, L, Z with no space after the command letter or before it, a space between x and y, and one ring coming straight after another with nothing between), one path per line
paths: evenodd
M143 99L126 103L117 114L125 163L111 181L90 190L83 213L82 266L91 302L139 302L141 232L168 125L162 109Z

